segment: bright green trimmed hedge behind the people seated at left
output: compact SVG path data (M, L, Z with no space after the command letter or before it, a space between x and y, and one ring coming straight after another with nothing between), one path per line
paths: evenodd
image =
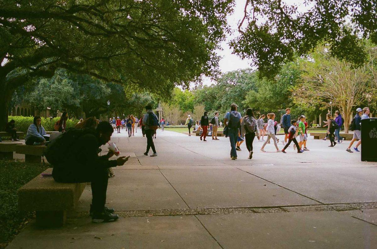
M20 132L26 132L28 131L29 126L33 123L33 118L34 117L23 117L23 116L9 116L8 120L11 121L14 119L15 122L15 127L17 131ZM42 118L42 126L46 131L55 131L54 130L54 125L56 121L58 121L60 118ZM73 119L68 119L67 120L67 128L74 127L77 124L78 120L73 118Z

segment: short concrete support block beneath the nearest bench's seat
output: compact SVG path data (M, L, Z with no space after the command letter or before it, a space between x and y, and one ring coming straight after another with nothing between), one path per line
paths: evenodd
M40 227L60 227L66 224L67 211L37 211L35 216Z

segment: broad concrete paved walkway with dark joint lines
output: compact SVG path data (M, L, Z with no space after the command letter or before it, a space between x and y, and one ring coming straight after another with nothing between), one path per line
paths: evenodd
M112 141L131 158L107 190L120 220L90 222L87 185L66 227L32 222L8 248L377 248L377 163L348 141L310 139L301 154L255 141L253 159L242 144L232 161L227 138L158 131L152 158L141 131L122 132Z

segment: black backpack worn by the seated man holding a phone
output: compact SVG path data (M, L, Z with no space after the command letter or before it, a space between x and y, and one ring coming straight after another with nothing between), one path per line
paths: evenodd
M70 162L71 155L68 151L79 137L87 133L94 133L94 131L90 129L68 129L48 144L44 149L43 155L51 165L72 163Z

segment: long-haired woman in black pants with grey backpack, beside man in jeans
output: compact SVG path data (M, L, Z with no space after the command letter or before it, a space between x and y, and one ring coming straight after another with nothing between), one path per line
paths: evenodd
M258 135L258 124L254 118L253 109L247 108L246 115L242 119L241 134L245 134L246 148L249 151L249 159L253 158L253 141Z

